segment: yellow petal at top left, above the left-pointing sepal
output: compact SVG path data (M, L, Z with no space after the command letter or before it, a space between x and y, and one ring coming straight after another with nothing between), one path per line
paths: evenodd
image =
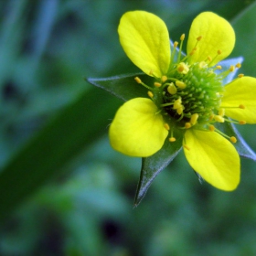
M125 13L118 27L120 42L133 63L149 74L160 78L170 64L170 39L165 22L151 13L133 11Z

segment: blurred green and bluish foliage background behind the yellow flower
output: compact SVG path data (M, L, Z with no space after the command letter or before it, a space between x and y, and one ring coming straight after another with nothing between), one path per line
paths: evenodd
M122 101L84 78L138 71L117 35L134 9L163 18L174 40L202 11L225 17L231 57L256 77L254 1L0 1L0 255L256 255L251 160L227 193L199 184L181 153L133 208L141 159L107 137ZM239 128L256 150L255 125Z

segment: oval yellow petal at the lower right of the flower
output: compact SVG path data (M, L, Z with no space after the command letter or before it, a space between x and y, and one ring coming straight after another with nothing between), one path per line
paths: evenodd
M233 190L240 183L240 156L235 147L215 132L189 129L184 152L188 163L209 184Z

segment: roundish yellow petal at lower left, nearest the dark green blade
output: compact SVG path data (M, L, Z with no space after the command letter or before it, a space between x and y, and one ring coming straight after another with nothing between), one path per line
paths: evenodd
M112 147L131 156L150 156L161 149L168 134L155 103L146 98L127 101L110 126Z

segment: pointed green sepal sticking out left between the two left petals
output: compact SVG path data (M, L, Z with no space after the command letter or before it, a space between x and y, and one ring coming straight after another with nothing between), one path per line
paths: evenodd
M123 101L129 101L137 97L146 97L147 89L138 84L134 78L139 77L148 86L153 86L155 78L145 75L144 73L128 74L114 76L104 79L87 79L92 85L110 92Z

